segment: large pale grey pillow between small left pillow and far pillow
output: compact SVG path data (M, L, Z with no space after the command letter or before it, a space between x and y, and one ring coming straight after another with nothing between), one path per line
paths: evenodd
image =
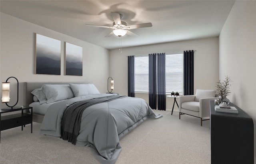
M68 84L46 84L42 86L42 92L46 96L46 103L74 98L74 94Z

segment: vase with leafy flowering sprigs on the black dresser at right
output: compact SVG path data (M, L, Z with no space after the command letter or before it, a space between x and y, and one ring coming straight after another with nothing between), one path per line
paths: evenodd
M218 94L218 103L222 103L225 102L227 105L229 104L229 100L227 99L227 96L231 93L230 92L230 82L232 82L232 80L230 80L229 76L225 77L225 80L223 80L222 82L220 82L220 80L216 83L216 92Z

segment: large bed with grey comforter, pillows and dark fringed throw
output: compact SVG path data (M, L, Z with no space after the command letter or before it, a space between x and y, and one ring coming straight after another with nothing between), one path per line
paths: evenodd
M148 118L162 117L143 99L100 94L88 82L25 85L26 104L33 107L33 121L42 123L40 135L89 146L102 164L116 162L122 149L119 140L129 131Z

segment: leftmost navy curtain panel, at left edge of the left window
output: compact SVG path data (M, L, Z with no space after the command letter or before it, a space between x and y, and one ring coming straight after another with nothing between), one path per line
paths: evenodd
M135 96L134 61L134 56L128 56L128 96L130 97Z

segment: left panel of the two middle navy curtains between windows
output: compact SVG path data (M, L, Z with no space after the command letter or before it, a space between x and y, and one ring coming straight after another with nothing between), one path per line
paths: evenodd
M148 71L148 96L149 106L156 109L156 54L149 54L149 71Z

